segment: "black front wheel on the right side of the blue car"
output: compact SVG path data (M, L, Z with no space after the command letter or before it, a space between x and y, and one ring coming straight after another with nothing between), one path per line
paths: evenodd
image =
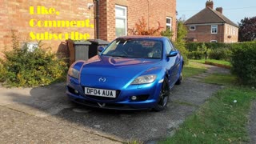
M165 78L162 82L162 88L159 94L158 103L154 106L154 111L161 111L166 109L167 103L169 101L170 87L168 84L168 78Z

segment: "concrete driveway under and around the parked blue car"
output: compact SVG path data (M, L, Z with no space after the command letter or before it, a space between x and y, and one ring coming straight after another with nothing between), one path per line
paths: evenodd
M204 65L203 65L204 66ZM168 108L150 110L95 110L66 98L65 84L6 89L0 87L0 142L3 143L120 143L155 142L173 134L207 98L222 86L198 82L214 72L186 78L174 86Z

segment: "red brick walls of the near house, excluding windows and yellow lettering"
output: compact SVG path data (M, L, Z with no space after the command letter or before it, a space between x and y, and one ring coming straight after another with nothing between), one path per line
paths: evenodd
M90 10L87 8L88 3L94 0L2 0L0 5L0 52L11 48L11 30L14 30L21 42L34 42L30 40L30 32L34 33L70 33L77 31L81 34L88 33L90 38L94 38L94 28L87 27L31 27L30 19L42 21L67 20L78 21L90 19L90 23L94 24L94 7ZM99 38L112 41L115 36L115 10L114 6L118 4L127 7L127 28L132 29L138 19L144 17L148 26L157 27L158 22L166 28L166 17L173 18L172 28L176 31L176 0L100 0L99 14ZM53 7L59 11L59 15L38 15L30 14L30 6ZM96 26L96 25L95 25ZM176 34L174 34L174 38ZM46 47L52 47L53 51L59 51L62 42L65 40L45 40L42 41ZM60 50L62 51L62 50Z

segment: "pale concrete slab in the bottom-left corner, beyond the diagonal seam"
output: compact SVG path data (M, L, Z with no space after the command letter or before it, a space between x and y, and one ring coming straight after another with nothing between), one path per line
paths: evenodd
M121 143L0 106L1 143Z

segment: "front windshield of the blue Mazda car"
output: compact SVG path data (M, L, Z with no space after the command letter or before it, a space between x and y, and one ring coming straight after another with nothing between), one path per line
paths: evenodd
M150 39L116 39L102 55L126 58L162 58L162 42Z

